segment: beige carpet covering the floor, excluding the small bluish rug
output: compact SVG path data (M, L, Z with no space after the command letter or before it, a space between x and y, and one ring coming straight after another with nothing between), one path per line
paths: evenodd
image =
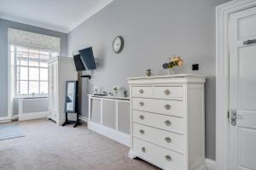
M86 128L48 120L18 122L25 137L0 141L0 170L151 170L129 148Z

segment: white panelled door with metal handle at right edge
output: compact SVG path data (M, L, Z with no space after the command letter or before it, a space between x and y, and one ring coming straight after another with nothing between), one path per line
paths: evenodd
M230 170L256 170L256 8L230 15Z

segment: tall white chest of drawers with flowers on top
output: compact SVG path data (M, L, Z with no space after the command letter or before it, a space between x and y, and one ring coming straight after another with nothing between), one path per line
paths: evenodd
M203 170L205 165L202 75L129 78L130 158L166 170Z

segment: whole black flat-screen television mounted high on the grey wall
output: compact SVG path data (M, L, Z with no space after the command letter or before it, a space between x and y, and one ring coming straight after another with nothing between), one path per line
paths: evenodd
M79 54L73 56L77 71L95 70L96 63L92 48L79 50Z

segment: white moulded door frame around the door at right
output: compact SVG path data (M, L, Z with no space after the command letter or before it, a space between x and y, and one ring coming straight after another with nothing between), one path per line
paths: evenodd
M256 6L256 0L233 0L216 8L216 169L229 169L229 19Z

